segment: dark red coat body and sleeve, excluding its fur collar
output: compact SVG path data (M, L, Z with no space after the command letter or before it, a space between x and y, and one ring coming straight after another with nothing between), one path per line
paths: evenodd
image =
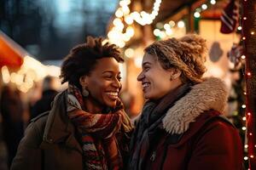
M159 129L145 169L242 169L239 134L230 122L217 115L216 111L205 112L190 124L186 133L177 136Z

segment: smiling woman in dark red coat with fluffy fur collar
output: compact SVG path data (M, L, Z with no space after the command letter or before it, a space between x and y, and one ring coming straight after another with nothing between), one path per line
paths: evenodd
M129 169L242 169L239 134L220 116L227 88L218 78L202 78L206 54L197 35L145 48L137 80L148 100L131 137Z

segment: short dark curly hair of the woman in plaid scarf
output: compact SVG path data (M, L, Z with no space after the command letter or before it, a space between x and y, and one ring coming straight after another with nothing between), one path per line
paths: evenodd
M87 37L85 43L72 48L61 65L61 83L68 82L78 88L79 78L90 75L96 66L97 60L113 57L119 63L124 62L119 48L109 42L102 43L102 37Z

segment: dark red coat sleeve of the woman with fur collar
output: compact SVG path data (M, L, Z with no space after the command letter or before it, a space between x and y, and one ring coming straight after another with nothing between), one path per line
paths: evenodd
M212 122L193 144L188 169L242 169L241 139L227 122Z

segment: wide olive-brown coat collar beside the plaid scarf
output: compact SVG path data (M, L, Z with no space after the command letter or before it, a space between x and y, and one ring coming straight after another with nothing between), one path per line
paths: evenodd
M57 94L44 128L41 147L48 144L64 142L68 147L82 152L78 140L75 138L75 127L67 117L67 91Z

